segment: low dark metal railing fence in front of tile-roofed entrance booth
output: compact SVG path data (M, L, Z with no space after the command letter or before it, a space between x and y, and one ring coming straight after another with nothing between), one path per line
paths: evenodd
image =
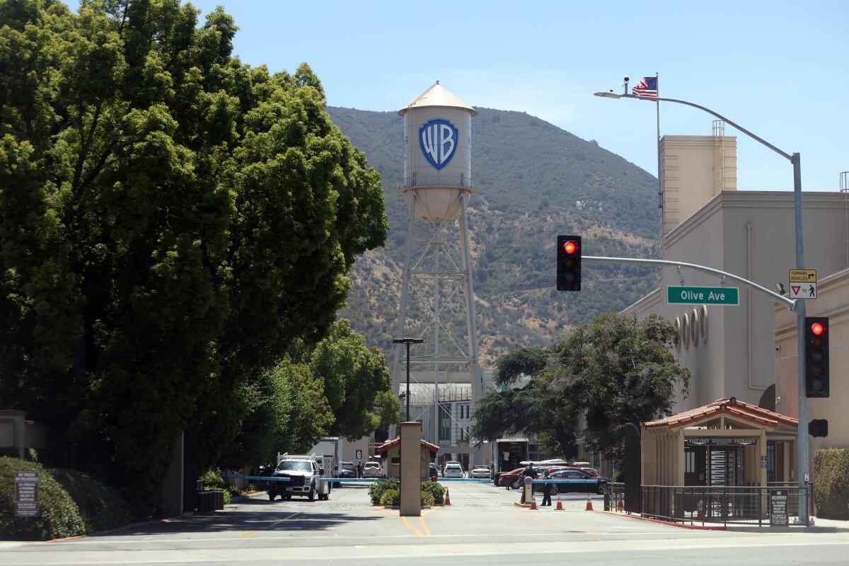
M772 487L642 485L642 514L689 524L769 524L769 496ZM799 516L799 494L808 488L782 487L787 494L787 514ZM616 510L615 490L611 490L611 510ZM606 500L606 497L605 497ZM810 502L810 498L807 500Z

